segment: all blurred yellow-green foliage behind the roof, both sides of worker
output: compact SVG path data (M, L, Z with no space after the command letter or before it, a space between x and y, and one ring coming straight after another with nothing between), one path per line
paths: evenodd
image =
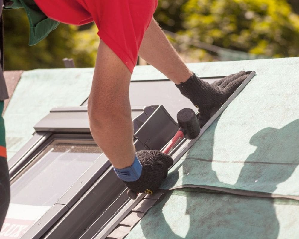
M290 5L291 4L291 5ZM192 42L269 57L299 56L298 0L159 0L155 19L165 30ZM63 68L64 57L77 67L93 67L99 38L94 24L60 24L35 46L28 46L23 9L4 10L5 69ZM176 42L176 37L171 37ZM184 38L181 38L184 39ZM181 44L195 61L219 59L215 53Z

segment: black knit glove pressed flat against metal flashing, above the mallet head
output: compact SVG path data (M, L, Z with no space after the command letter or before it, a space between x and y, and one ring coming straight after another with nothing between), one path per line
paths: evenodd
M176 85L176 87L198 108L199 124L202 127L210 119L211 111L222 105L247 76L245 71L240 71L237 74L226 76L213 84L209 84L193 73L193 76L186 82Z

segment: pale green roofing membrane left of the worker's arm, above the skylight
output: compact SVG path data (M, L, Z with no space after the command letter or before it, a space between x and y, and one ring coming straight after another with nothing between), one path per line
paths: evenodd
M89 96L93 68L25 71L4 113L7 159L27 143L33 126L54 107L80 106Z

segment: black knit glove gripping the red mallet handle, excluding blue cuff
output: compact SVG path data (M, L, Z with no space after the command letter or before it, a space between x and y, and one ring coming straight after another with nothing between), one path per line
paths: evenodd
M136 155L142 165L140 178L134 182L123 182L132 191L153 194L167 177L173 159L158 150L140 150Z

